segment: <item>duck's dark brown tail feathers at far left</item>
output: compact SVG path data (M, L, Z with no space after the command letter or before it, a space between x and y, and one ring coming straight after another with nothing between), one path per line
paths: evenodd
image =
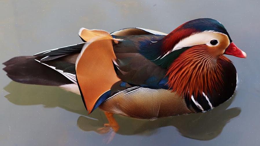
M19 83L60 86L72 84L65 76L59 72L47 67L34 59L36 56L18 56L14 57L3 65L7 76Z

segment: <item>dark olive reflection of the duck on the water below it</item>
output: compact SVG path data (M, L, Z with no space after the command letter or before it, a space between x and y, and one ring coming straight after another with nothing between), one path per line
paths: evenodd
M74 93L68 94L70 92L58 87L25 85L13 81L4 89L10 93L5 97L11 103L16 105L43 105L45 108L61 107L67 111L82 115L79 116L77 125L83 131L95 131L100 134L108 132L106 141L112 140L113 136L115 136L110 127L103 128L104 123L107 123L105 114L101 110L95 110L92 114L87 115L81 97ZM21 97L23 100L19 100ZM221 133L224 126L232 118L240 114L241 109L239 107L228 109L234 98L235 94L230 100L208 112L158 118L154 121L136 120L116 115L116 121L120 125L117 134L151 135L161 127L173 126L177 128L182 136L187 138L211 140Z

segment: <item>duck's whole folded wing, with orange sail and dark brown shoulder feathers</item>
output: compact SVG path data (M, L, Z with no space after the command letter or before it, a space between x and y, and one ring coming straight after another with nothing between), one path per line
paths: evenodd
M156 42L164 35L143 28L122 29L111 35L102 30L81 28L79 36L84 43L47 50L35 56L36 61L78 83L90 113L108 97L129 87L161 88L158 83L164 77L165 69L139 53L138 39Z

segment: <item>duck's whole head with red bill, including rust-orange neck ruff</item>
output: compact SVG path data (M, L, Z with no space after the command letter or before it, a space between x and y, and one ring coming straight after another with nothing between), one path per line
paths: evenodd
M161 55L155 61L166 65L168 86L174 92L196 97L224 84L221 63L231 61L223 54L246 58L219 21L195 19L162 39Z

